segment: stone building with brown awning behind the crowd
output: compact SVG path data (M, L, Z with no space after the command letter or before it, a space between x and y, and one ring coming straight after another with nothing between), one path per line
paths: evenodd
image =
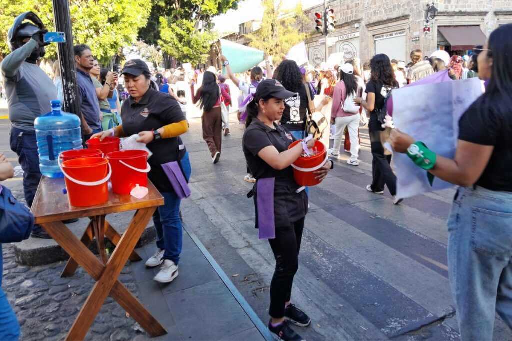
M428 56L436 50L471 54L474 46L500 25L512 23L510 0L353 0L329 1L334 10L335 30L327 37L328 57L369 60L378 53L408 62L410 52L420 49ZM425 16L429 6L437 9L433 19ZM324 5L308 8L314 28L315 12ZM314 33L307 40L310 63L325 61L325 36Z

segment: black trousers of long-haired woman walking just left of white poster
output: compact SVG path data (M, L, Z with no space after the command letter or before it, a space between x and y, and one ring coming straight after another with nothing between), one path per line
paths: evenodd
M381 123L376 118L370 119L368 126L373 155L372 191L383 191L384 185L387 185L391 195L396 195L396 175L390 165L392 155L384 155L384 146L380 140Z

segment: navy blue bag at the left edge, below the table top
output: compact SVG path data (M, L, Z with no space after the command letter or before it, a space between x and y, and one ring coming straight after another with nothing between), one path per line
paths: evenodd
M2 185L0 185L2 186ZM20 203L12 192L2 186L0 192L0 243L20 242L30 237L34 216L27 206Z

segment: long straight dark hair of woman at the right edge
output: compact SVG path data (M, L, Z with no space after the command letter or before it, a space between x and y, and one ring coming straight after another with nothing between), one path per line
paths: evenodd
M491 77L483 96L485 115L490 110L510 115L512 103L512 24L503 25L490 34L487 58L493 58Z

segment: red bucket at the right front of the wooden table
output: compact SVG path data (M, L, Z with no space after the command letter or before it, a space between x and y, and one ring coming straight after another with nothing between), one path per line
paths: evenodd
M144 150L120 150L106 155L112 165L112 192L130 194L137 184L147 187L149 153Z

